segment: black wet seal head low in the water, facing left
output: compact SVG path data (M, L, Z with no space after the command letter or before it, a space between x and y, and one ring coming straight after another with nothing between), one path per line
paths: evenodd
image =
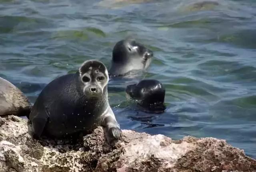
M163 113L165 88L154 79L144 79L138 84L128 85L126 94L135 99L140 109L149 113Z

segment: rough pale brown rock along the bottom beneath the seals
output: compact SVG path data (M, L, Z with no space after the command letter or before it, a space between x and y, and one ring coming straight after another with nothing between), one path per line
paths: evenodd
M216 138L172 140L122 130L121 140L110 148L101 127L71 145L33 140L27 134L27 121L15 116L0 118L0 124L1 172L256 171L256 160Z

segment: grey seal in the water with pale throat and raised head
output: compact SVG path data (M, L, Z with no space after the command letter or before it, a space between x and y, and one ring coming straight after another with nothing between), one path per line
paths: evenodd
M148 68L152 61L153 52L144 45L131 40L121 40L112 51L112 62L109 70L110 77L129 75L130 72Z

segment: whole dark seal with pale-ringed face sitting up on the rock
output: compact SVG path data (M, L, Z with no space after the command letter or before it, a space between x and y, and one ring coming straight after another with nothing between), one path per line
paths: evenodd
M104 127L113 146L121 130L108 103L108 71L98 60L85 61L79 73L51 81L32 107L28 130L33 138L61 139Z

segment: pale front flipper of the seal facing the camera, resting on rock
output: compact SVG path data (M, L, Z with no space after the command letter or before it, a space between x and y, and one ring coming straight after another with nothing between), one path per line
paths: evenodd
M102 115L102 126L104 127L104 132L110 146L114 146L116 142L120 139L122 131L118 125L115 115L112 109L109 107L108 113Z

